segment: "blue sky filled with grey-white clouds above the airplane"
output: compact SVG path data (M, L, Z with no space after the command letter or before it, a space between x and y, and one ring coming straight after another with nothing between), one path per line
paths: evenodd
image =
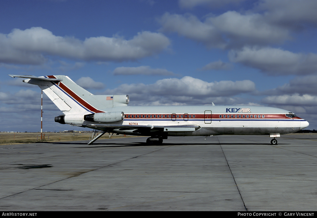
M68 75L129 106L271 106L317 129L317 1L2 0L0 131L40 131L41 90ZM43 131L54 122L43 94Z

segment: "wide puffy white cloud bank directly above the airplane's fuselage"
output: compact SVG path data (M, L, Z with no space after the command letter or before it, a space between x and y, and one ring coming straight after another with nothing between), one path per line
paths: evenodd
M212 101L233 103L229 96L255 91L255 84L250 80L206 82L190 76L181 79L170 78L158 80L154 84L122 84L107 94L128 94L138 104L211 104ZM225 97L227 96L227 97ZM133 102L131 102L133 103ZM240 102L241 103L241 102Z

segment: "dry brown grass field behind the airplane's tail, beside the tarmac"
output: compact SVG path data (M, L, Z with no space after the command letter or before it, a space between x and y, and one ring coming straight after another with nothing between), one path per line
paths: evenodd
M20 143L36 143L36 142L58 142L58 141L80 141L87 140L91 137L92 132L89 133L63 133L63 132L45 132L41 140L40 132L0 132L1 144L20 144ZM121 138L123 135L114 135L111 138ZM109 138L108 133L101 137L102 139Z

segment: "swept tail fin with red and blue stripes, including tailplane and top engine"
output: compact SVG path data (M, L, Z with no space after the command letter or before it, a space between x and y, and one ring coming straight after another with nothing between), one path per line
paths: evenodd
M64 114L106 112L106 108L126 106L129 103L127 95L93 95L64 75L10 76L27 78L23 82L38 85Z

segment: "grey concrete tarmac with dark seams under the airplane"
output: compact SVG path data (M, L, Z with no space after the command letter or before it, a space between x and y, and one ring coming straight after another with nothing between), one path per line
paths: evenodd
M0 211L314 211L317 135L0 146Z

